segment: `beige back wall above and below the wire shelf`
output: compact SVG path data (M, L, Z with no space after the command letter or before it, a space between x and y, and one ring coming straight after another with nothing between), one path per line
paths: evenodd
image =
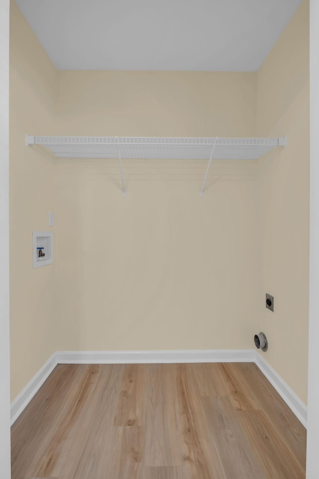
M58 72L60 135L254 136L255 73ZM57 160L60 349L248 348L256 164ZM249 298L246 303L243 298Z

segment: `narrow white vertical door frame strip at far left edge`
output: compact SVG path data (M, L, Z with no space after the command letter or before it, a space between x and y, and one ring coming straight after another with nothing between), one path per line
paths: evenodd
M0 477L10 478L9 1L0 0Z

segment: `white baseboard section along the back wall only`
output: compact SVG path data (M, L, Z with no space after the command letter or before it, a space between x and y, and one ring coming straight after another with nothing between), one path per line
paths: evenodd
M57 351L59 364L230 363L255 361L253 349Z

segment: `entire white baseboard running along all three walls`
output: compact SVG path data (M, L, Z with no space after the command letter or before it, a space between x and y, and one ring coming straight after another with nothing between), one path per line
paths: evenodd
M300 422L307 428L307 406L254 349L170 351L56 351L11 403L11 425L57 364L138 364L255 362Z

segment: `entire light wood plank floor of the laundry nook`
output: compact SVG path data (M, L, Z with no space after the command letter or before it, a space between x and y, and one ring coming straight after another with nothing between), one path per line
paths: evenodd
M12 479L304 479L306 431L253 363L58 365Z

